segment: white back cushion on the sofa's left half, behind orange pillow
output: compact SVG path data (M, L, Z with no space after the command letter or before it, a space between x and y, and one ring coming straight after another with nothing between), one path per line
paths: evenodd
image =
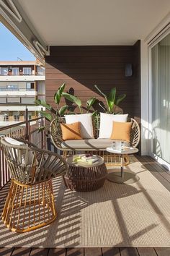
M94 138L92 114L76 114L76 115L65 115L66 124L72 124L76 121L81 123L81 137L83 139Z

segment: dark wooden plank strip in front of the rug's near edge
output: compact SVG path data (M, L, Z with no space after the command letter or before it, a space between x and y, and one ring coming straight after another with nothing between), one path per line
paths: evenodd
M170 248L0 248L1 256L169 256Z

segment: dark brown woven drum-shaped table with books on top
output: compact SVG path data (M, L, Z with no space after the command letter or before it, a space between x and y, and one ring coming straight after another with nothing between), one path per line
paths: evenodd
M107 176L107 168L103 158L96 163L75 163L71 155L67 158L68 171L63 177L66 187L71 190L89 192L103 186Z

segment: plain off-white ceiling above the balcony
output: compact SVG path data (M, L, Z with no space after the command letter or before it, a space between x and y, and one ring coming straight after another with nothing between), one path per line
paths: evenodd
M170 11L170 0L14 0L48 46L133 45ZM19 8L20 8L19 7Z

